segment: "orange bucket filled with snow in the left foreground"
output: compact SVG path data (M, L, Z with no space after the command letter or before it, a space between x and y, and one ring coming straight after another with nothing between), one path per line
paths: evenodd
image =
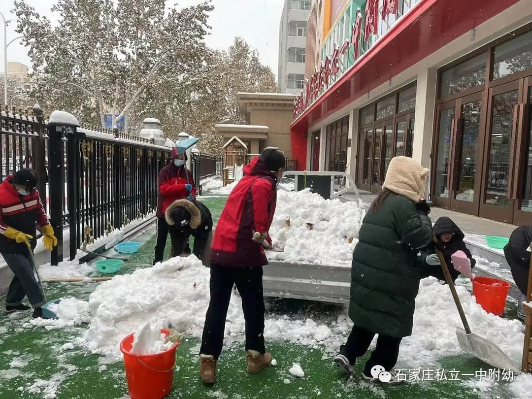
M161 330L169 335L169 330ZM122 339L120 351L124 354L126 379L131 399L161 399L172 389L173 370L176 367L176 349L179 342L161 353L137 355L131 353L133 334Z

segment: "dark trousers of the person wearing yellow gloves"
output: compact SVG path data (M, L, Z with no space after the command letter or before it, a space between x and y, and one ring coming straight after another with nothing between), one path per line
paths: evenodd
M28 297L33 307L44 305L43 291L35 278L34 266L29 259L29 254L3 253L2 257L15 275L7 290L6 306L20 305L24 296Z

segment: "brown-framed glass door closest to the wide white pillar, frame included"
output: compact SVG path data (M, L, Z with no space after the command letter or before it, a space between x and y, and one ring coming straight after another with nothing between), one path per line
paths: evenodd
M455 136L455 107L456 102L440 104L437 107L437 140L434 142L433 154L436 154L433 162L431 197L434 203L440 207L449 209L451 206L451 152Z

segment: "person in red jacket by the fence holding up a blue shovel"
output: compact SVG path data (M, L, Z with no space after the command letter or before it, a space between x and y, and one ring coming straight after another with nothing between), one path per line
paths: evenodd
M157 238L155 243L155 259L153 264L163 261L164 248L168 239L168 223L164 219L164 212L174 201L181 198L194 200L196 185L192 172L186 167L187 154L179 154L177 148L172 149L170 164L159 172L159 200L157 201ZM186 251L190 253L187 245Z

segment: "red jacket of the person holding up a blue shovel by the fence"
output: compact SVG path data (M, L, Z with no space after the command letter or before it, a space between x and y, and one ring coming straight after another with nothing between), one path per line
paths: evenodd
M188 193L186 184L192 184L192 195L196 197L196 184L192 172L185 167L178 168L173 163L165 166L159 172L157 185L159 186L159 198L157 201L157 217L164 218L164 211L172 202L180 198L186 198Z

